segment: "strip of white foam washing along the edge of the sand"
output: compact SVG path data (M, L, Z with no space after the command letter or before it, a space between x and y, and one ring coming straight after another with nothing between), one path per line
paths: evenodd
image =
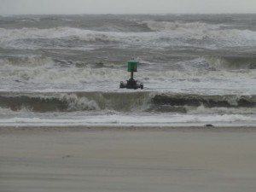
M111 115L85 115L65 118L9 118L0 119L2 126L79 126L79 125L101 125L101 126L191 126L191 125L255 125L254 116L242 114L111 114Z

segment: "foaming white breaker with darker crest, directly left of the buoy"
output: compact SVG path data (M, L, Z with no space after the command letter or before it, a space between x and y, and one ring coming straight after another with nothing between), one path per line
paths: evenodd
M60 61L41 55L7 57L0 59L0 65L1 79L18 82L73 84L125 78L119 67L90 67L79 61Z

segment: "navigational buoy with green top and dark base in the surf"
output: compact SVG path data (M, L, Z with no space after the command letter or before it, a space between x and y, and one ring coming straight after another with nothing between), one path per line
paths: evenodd
M137 61L132 58L130 61L127 61L127 68L128 72L131 72L131 79L126 80L126 83L121 81L120 82L120 89L142 89L143 90L143 83L138 82L137 80L133 79L133 73L137 72Z

